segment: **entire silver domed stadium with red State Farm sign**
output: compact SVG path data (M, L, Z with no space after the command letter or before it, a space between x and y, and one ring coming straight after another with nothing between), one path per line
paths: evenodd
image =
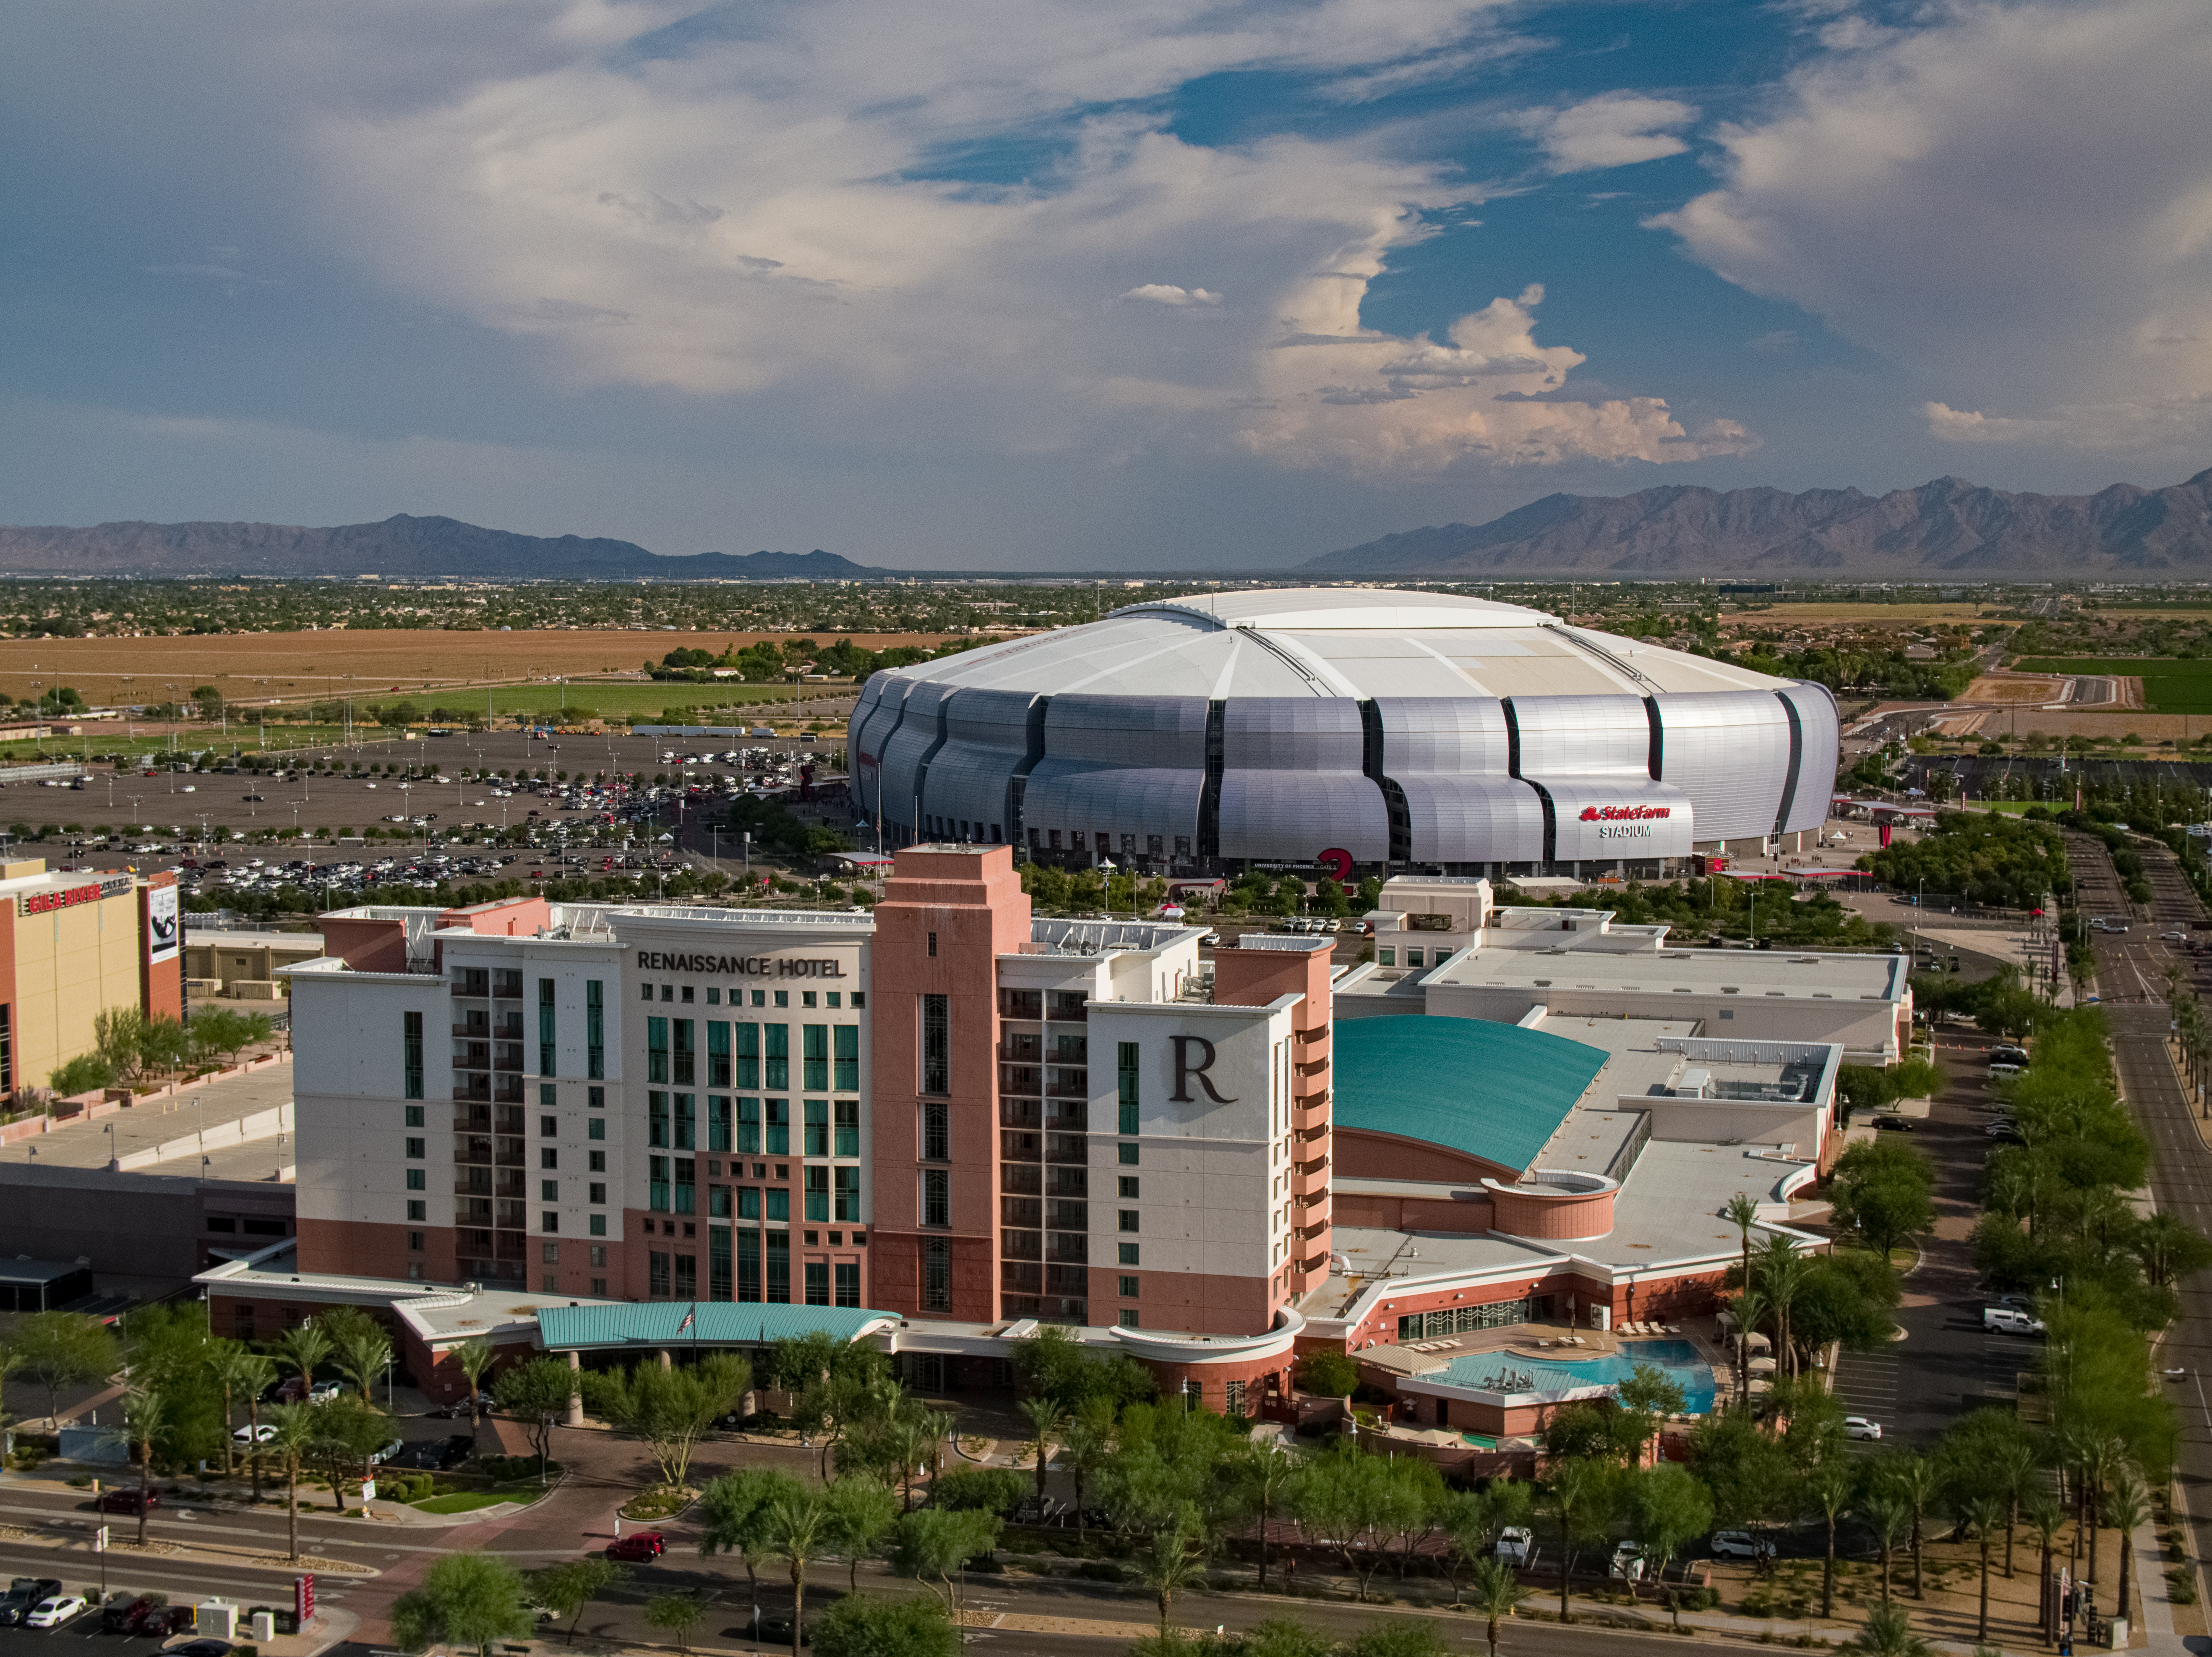
M1502 878L1666 876L1818 830L1838 726L1823 686L1517 604L1310 588L1133 604L889 668L847 737L885 850Z

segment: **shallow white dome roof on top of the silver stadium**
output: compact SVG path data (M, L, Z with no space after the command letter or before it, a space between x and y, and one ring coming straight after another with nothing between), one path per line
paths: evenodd
M1705 657L1522 604L1389 588L1186 595L989 644L900 675L947 688L1102 697L1573 697L1774 690Z

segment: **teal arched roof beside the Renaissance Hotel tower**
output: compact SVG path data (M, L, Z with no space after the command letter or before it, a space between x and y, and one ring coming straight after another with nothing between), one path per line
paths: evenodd
M1332 1053L1334 1126L1526 1170L1606 1057L1482 1018L1347 1018Z

